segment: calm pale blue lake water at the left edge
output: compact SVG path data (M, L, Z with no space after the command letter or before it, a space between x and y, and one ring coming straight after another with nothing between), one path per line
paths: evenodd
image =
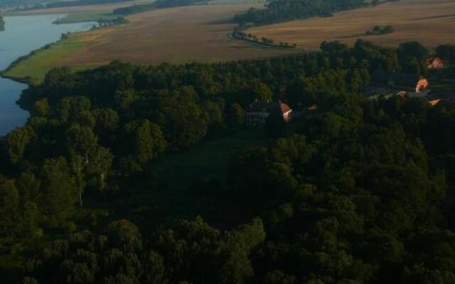
M4 17L5 31L0 31L0 70L6 69L17 58L59 40L62 33L85 31L94 24L53 24L53 21L63 16L65 15ZM28 112L16 104L26 88L26 84L0 77L0 136L26 122Z

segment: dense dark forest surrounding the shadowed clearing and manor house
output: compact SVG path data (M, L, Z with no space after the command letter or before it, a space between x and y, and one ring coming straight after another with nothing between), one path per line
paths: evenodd
M359 40L50 71L21 97L27 124L0 140L3 283L454 283L455 105L363 94L373 70L427 72L426 53ZM275 139L205 183L217 226L97 215L159 190L160 173L144 171L157 157L229 135L271 99L319 111L289 128L272 116Z

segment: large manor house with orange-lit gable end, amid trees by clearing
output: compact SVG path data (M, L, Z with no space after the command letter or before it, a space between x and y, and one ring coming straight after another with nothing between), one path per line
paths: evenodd
M246 109L247 125L259 126L265 123L270 114L276 112L283 116L284 121L291 120L292 109L282 102L254 102Z

